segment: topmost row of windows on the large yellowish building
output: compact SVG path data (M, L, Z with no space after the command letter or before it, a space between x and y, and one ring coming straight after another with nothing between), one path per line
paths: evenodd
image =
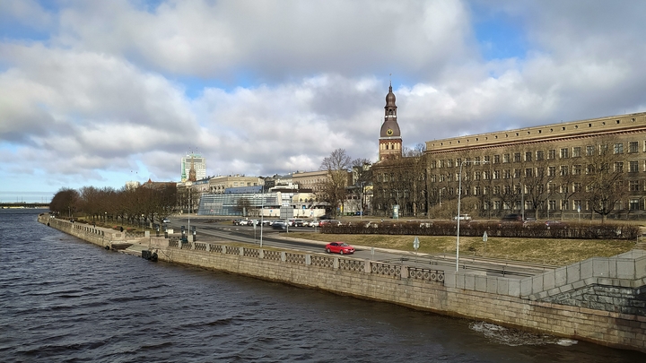
M628 146L628 153L636 153L639 152L639 142L630 142L627 144ZM585 149L582 149L581 146L573 146L572 148L561 148L559 150L552 149L543 151L543 150L537 150L537 151L525 151L525 152L508 152L508 153L503 153L501 155L493 155L493 158L491 156L485 156L482 158L476 157L474 160L470 160L469 158L465 159L464 161L461 160L460 158L456 160L433 160L431 164L431 168L454 168L454 167L459 167L460 164L464 163L471 163L473 162L474 165L480 165L481 163L492 163L493 164L501 164L501 163L509 163L509 162L521 162L521 161L542 161L542 160L555 160L557 159L557 156L559 159L568 159L568 158L581 158L583 156L582 152L585 152L585 156L593 156L595 155L596 152L605 152L607 151L608 145L603 144L603 145L588 145L585 147ZM643 147L642 151L646 152L646 140L643 142ZM615 154L623 154L624 153L624 143L615 143L613 145L613 152Z

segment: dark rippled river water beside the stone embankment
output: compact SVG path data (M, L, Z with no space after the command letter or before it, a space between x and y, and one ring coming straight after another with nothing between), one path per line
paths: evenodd
M3 362L643 362L385 303L106 251L0 210Z

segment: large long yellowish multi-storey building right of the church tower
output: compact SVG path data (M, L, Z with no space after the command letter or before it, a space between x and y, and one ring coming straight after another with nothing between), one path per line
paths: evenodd
M375 166L375 213L423 215L476 197L479 217L646 218L646 113L426 143ZM394 193L396 192L396 193Z

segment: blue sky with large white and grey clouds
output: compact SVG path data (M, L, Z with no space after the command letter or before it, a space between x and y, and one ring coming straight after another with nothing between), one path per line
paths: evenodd
M0 203L646 111L646 1L0 0Z

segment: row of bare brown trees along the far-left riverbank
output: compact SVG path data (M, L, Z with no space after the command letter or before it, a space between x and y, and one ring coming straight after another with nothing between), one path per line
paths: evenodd
M49 203L59 217L81 213L90 220L109 220L117 224L162 223L175 211L178 190L174 183L145 184L116 190L83 186L80 190L63 188Z

